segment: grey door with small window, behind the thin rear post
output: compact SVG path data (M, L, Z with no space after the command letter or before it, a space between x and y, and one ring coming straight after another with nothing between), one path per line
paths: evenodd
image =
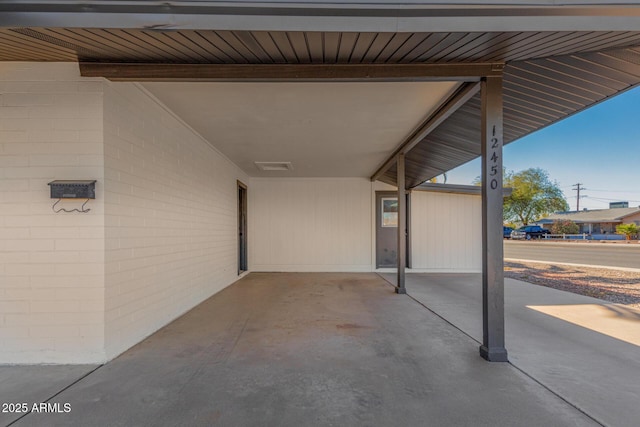
M411 198L407 195L407 228ZM407 230L405 230L406 233ZM411 265L407 233L407 267ZM398 193L376 191L376 268L398 267Z

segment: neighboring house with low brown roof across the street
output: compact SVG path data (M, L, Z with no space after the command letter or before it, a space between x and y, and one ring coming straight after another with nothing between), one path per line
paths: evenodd
M580 212L560 212L549 215L536 222L543 226L550 226L554 221L569 220L580 226L580 233L614 234L616 225L640 225L640 207L595 209Z

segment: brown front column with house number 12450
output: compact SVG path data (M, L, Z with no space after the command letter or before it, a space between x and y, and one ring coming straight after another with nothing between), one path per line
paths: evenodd
M482 80L482 346L480 355L506 362L502 232L502 77Z

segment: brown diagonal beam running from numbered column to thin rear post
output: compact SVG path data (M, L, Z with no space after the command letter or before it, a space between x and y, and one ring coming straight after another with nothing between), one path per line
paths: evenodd
M407 154L420 141L433 132L442 122L455 113L480 90L480 83L465 83L442 106L432 114L422 125L405 139L391 156L371 176L371 181L376 181L396 162L398 154Z

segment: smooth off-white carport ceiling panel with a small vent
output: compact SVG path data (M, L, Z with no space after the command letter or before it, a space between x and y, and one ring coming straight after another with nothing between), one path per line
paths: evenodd
M369 177L455 82L145 83L250 176ZM261 171L254 162L291 162Z

